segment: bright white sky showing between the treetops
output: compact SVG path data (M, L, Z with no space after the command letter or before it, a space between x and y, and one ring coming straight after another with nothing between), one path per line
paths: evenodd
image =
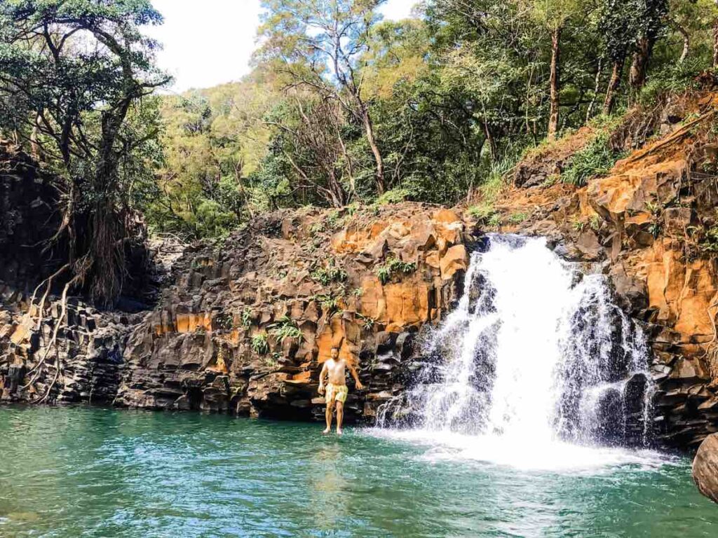
M415 3L388 0L381 11L386 19L402 19ZM157 60L174 76L171 92L209 88L249 72L259 0L153 0L152 4L164 15L164 24L147 33L164 45Z

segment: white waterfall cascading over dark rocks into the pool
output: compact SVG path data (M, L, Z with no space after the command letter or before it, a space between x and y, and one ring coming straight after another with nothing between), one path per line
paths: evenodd
M651 377L640 329L605 277L581 275L545 240L489 243L426 342L417 382L379 421L409 422L384 435L518 466L623 461L630 451L597 447L645 444Z

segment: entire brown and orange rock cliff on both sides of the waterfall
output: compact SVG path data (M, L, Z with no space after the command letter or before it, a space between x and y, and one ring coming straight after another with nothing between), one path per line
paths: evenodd
M368 387L351 393L348 418L373 420L460 296L472 242L516 232L610 276L651 344L659 443L697 445L718 430L717 106L704 90L633 110L610 131L625 158L582 187L560 176L597 127L531 152L490 220L408 202L266 214L222 242L177 247L153 304L106 312L73 298L59 326L60 301L34 294L30 274L50 268L22 250L43 235L18 224L55 197L31 159L6 151L1 398L311 419L320 364L340 346Z

